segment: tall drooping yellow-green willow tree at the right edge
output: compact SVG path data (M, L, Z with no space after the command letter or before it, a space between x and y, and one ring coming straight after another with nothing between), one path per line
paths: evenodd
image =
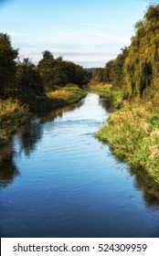
M135 24L124 64L124 98L151 99L159 91L159 5L149 5Z

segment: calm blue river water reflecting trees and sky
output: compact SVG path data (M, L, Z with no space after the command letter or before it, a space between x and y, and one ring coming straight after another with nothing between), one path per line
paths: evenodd
M89 93L0 150L1 237L159 237L159 199L93 137L110 110Z

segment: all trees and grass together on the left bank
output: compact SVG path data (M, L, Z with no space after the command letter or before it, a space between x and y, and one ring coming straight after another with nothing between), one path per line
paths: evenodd
M89 80L90 72L61 57L54 59L48 50L37 66L29 58L20 60L10 37L1 33L0 144L26 122L30 112L44 113L80 101L86 96L82 86Z

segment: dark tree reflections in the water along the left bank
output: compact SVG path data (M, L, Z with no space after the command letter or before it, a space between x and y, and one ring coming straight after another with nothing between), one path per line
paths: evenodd
M36 150L43 134L42 124L54 121L58 116L62 116L64 112L80 108L81 104L82 101L76 105L49 112L46 116L30 118L29 122L22 126L13 136L12 140L0 148L0 189L10 185L14 178L20 175L14 159L16 155L21 155L22 153L30 156ZM15 141L18 142L18 152L14 149Z

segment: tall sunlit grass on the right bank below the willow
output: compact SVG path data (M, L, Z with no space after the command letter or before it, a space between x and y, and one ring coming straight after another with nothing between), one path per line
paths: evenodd
M112 153L128 163L133 174L142 176L150 189L159 191L159 107L152 101L122 101L121 105L95 136L109 144Z

